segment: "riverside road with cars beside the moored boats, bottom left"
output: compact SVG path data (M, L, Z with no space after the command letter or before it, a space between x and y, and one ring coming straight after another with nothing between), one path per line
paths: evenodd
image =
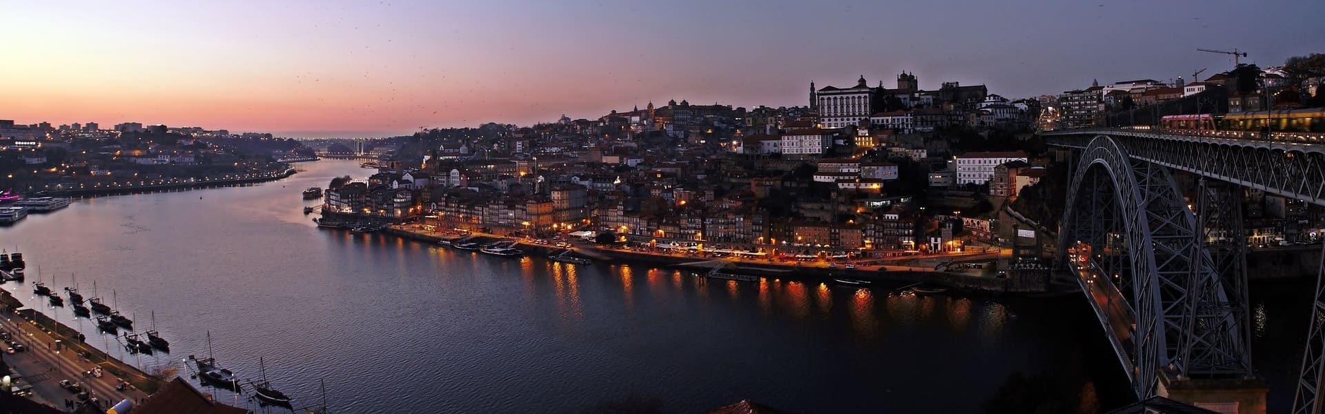
M33 399L54 407L64 407L65 399L74 398L74 394L60 386L61 380L82 382L83 390L99 399L105 407L125 398L139 401L147 397L136 389L115 390L119 378L106 370L101 378L85 377L83 373L95 365L83 361L73 350L52 349L49 344L54 344L56 338L21 317L7 314L0 318L0 328L13 334L20 344L28 348L26 352L7 354L5 362L23 376L26 383L32 385Z

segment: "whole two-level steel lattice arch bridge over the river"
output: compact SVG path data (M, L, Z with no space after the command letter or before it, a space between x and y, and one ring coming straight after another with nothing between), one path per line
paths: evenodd
M1140 398L1166 378L1251 378L1242 188L1325 206L1325 137L1106 129L1045 133L1080 151L1060 228ZM1189 200L1169 170L1199 176ZM1325 269L1325 263L1322 263ZM1295 413L1321 413L1325 291L1317 283Z

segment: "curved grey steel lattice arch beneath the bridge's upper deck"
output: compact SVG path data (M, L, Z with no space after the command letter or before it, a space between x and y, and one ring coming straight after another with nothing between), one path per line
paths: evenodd
M1110 326L1114 310L1083 283L1140 398L1157 393L1161 370L1171 378L1251 370L1243 329L1219 310L1228 300L1200 234L1166 167L1133 158L1109 135L1083 147L1059 232L1060 263L1089 267L1104 276L1101 291L1126 301L1133 324ZM1089 257L1067 260L1069 251Z

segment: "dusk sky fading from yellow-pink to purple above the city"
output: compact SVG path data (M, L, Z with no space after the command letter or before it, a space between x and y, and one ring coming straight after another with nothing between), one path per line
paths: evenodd
M1010 98L1325 53L1325 1L7 1L0 119L301 138L808 104L864 76Z

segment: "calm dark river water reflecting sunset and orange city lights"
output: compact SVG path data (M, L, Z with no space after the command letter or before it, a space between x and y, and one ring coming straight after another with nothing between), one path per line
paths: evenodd
M0 228L29 281L40 269L61 291L77 276L87 297L95 281L139 329L155 312L171 354L129 356L70 308L4 288L144 369L205 356L209 330L223 366L256 378L264 357L295 406L318 403L325 380L338 413L580 413L641 401L696 413L747 398L787 411L970 413L1018 372L1051 378L1085 407L1125 402L1121 369L1077 296L705 283L319 230L301 211L315 202L299 192L368 171L297 167L249 187L77 200ZM1305 333L1276 317L1276 300L1257 300L1257 344L1275 329ZM1281 376L1296 364L1261 369Z

